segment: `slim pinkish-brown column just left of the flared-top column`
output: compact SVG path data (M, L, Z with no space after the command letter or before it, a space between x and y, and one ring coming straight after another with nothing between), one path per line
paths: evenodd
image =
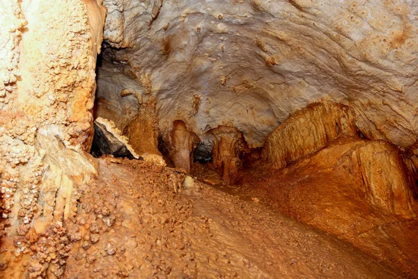
M193 153L199 144L197 135L187 130L181 120L173 122L173 130L169 133L169 156L175 167L185 169L189 174L193 163Z

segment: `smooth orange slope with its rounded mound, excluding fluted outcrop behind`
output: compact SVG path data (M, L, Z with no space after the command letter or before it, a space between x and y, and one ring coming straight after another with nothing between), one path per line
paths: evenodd
M418 273L418 204L401 154L391 144L340 138L288 167L259 165L251 173L240 185L249 195L409 277Z

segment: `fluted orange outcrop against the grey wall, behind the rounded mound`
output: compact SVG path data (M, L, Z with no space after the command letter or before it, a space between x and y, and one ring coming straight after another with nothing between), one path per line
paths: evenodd
M265 140L262 156L278 167L322 149L339 137L357 137L353 111L332 102L314 103L281 123Z

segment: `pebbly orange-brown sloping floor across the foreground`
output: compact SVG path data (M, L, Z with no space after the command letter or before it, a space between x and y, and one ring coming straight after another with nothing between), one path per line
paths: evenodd
M173 169L100 158L69 232L64 278L400 278L357 248L263 202ZM179 180L180 181L180 180Z

